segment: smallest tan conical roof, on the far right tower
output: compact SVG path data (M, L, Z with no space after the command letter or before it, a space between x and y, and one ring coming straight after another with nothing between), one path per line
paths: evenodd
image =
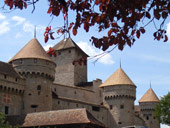
M141 102L159 102L159 98L157 97L155 92L152 90L152 88L150 88L139 100L139 103Z

